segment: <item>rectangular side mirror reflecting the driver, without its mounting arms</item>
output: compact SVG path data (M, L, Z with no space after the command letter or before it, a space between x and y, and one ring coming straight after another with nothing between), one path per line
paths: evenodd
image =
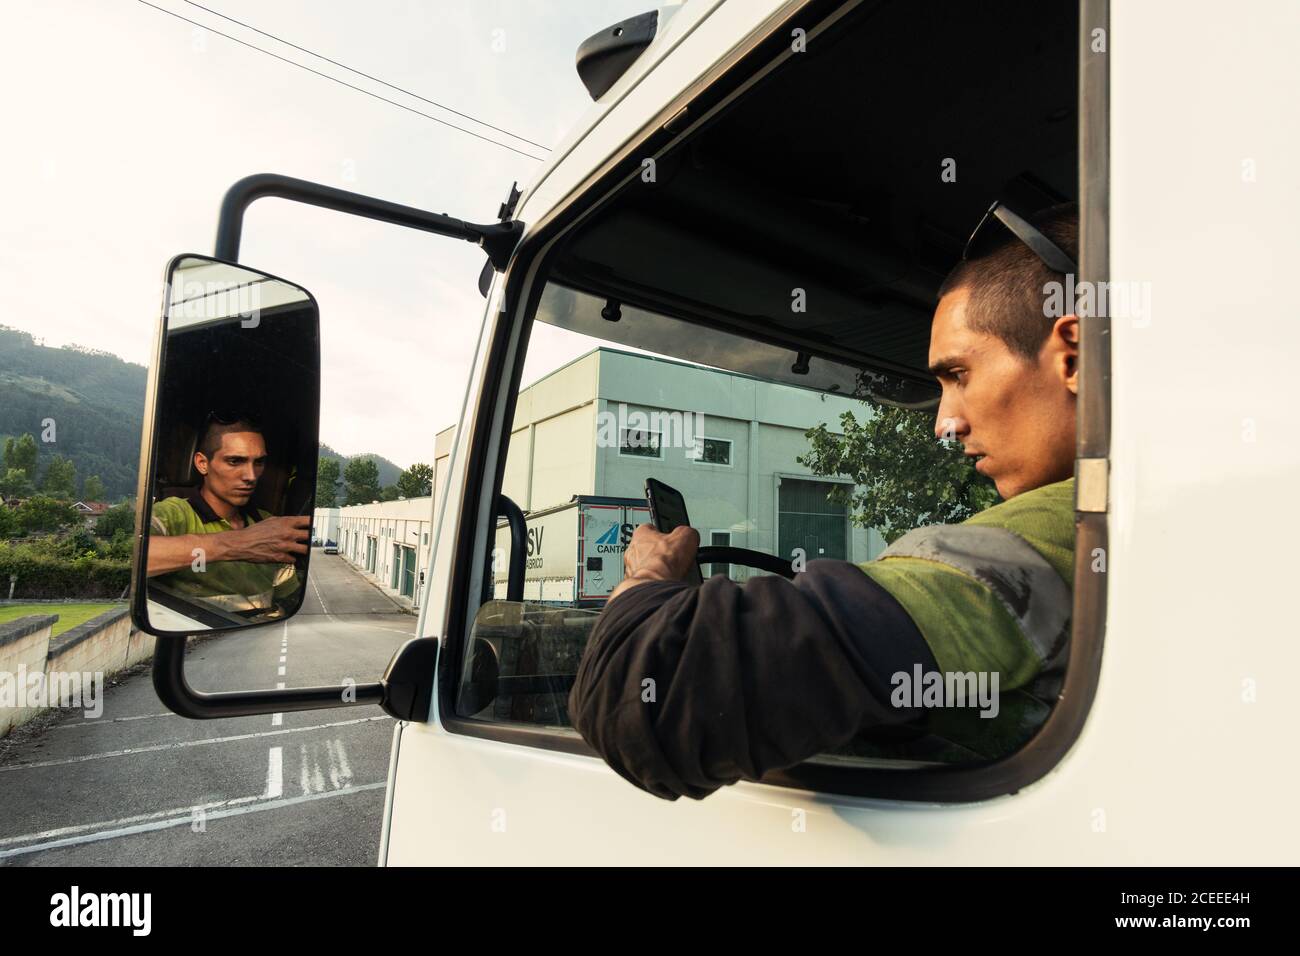
M320 310L199 255L168 264L146 398L131 617L176 637L298 613L320 432Z

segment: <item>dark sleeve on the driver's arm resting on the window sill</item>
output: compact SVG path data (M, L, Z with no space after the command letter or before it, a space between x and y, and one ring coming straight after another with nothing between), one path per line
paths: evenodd
M650 581L601 614L569 715L636 786L698 800L915 721L889 695L918 663L936 670L911 618L849 562L809 562L794 581Z

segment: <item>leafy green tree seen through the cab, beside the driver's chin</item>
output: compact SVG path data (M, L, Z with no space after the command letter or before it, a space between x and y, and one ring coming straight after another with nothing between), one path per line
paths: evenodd
M824 423L810 429L810 450L797 459L818 475L854 481L831 493L854 524L892 544L913 528L961 522L997 503L997 488L956 442L935 438L931 414L863 402L868 419L846 411L841 434Z

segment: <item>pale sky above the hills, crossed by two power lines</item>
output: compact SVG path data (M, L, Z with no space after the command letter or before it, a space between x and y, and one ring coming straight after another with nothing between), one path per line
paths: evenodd
M593 33L654 0L8 0L0 324L147 364L166 261L211 255L225 190L274 172L490 222L542 164L220 36L545 156L590 105ZM208 8L208 9L203 9ZM488 129L214 13L508 130ZM240 261L321 307L321 441L406 467L455 424L482 320L465 242L277 199ZM559 330L552 330L559 332ZM576 338L576 337L575 337ZM534 349L538 343L534 341ZM585 351L556 337L555 362Z

